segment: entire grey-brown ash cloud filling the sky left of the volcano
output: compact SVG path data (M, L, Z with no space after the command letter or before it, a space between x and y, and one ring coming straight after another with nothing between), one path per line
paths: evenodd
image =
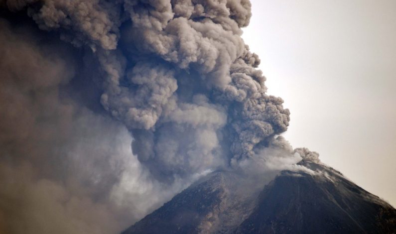
M116 233L210 171L313 155L278 136L289 111L241 38L248 0L0 0L0 16L1 233Z

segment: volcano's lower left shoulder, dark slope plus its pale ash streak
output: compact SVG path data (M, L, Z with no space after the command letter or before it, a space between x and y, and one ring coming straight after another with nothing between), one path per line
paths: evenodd
M252 213L263 188L236 173L213 172L176 195L123 234L219 233Z

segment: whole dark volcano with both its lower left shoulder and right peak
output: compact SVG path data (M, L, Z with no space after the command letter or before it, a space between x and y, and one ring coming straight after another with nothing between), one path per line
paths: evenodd
M306 170L282 171L265 186L211 173L124 234L396 233L391 205L330 167L299 165Z

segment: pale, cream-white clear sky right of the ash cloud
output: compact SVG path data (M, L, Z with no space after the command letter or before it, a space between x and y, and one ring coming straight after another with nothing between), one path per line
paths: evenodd
M293 147L396 206L396 1L252 0L243 38Z

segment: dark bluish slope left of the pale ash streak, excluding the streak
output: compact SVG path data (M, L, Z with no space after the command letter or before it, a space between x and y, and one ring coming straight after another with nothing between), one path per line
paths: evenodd
M212 214L220 209L224 194L222 174L211 174L206 180L176 195L124 233L197 233L212 218Z

